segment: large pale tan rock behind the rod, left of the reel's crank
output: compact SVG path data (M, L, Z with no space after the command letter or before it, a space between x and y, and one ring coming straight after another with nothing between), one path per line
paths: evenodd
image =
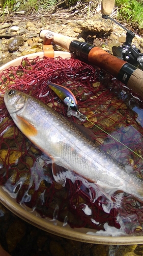
M102 18L101 14L96 14L91 19L81 24L81 30L95 34L105 35L113 30L112 22Z

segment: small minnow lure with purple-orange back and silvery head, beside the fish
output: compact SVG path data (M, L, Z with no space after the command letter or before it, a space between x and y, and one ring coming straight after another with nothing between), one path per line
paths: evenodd
M84 121L86 117L81 114L78 110L77 100L74 94L64 86L60 84L48 82L48 86L51 88L52 91L68 106L67 115L75 116L80 121Z

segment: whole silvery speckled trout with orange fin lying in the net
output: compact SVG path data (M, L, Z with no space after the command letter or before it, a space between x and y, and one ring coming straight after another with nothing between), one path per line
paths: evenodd
M55 181L70 170L101 188L124 191L143 201L143 182L130 172L130 166L103 152L66 117L13 89L5 92L4 102L19 130L50 157Z

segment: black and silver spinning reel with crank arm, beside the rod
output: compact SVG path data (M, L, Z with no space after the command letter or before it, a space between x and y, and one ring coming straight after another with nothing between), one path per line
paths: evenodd
M126 41L123 43L122 46L113 46L112 53L114 56L123 59L133 66L143 70L143 53L140 53L140 50L132 45L132 39L135 37L135 34L117 22L115 19L109 17L108 15L102 15L102 18L108 18L123 28L126 33Z

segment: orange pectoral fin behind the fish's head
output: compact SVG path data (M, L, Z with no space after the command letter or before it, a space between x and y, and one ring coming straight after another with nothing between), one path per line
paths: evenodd
M37 135L37 129L28 121L26 121L24 118L21 116L18 116L18 127L21 130L21 132L26 136L36 136Z

